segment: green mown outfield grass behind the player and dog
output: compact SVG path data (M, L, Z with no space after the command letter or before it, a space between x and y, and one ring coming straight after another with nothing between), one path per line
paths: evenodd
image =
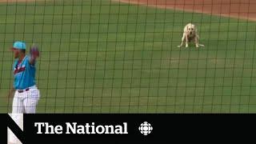
M194 22L205 48L178 48ZM255 22L103 1L0 4L0 112L15 40L38 43L38 113L255 113Z

